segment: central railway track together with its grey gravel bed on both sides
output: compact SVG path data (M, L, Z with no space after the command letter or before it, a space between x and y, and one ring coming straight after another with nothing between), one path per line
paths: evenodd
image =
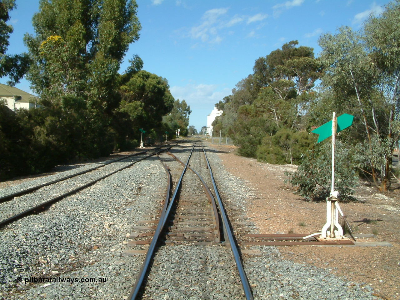
M138 161L45 212L1 228L0 300L244 300L300 295L333 300L342 295L345 283L328 272L292 266L280 259L277 248L258 246L271 237L256 235L246 215L243 204L251 198L251 190L245 186L242 190L243 182L224 171L213 150L205 148L212 159L208 162L200 143L193 151L192 147L192 142L180 142L170 153ZM139 157L130 159L116 164L127 166ZM75 183L75 188L85 184ZM48 195L56 193L52 186L42 187L0 205L33 198L46 188ZM79 283L26 282L32 277L75 278ZM81 281L99 278L106 282ZM322 281L326 288L321 288ZM347 298L365 298L362 290L347 288Z

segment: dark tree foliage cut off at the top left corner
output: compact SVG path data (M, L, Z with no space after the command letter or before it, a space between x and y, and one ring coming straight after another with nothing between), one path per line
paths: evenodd
M6 54L10 45L8 39L13 32L12 26L8 25L7 21L10 20L9 12L15 7L15 0L0 1L0 78L8 76L8 84L11 86L24 77L30 62L26 53Z

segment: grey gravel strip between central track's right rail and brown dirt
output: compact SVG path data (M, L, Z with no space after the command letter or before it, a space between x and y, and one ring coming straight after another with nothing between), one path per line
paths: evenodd
M224 170L214 148L208 149L210 151L207 156L226 210L228 213L245 212L245 203L254 198L254 192L246 186L244 180ZM244 233L257 234L251 220L245 221L248 229ZM243 232L234 222L233 230L235 233ZM252 286L254 299L377 299L372 296L372 289L368 286L346 282L324 268L283 260L276 247L248 248L260 251L260 255L243 256L244 269Z

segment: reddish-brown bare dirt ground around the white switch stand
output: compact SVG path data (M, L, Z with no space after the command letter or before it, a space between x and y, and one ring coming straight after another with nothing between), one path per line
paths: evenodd
M326 222L326 202L308 202L284 184L284 172L296 166L272 165L234 154L234 146L211 145L221 152L224 168L248 183L256 197L248 201L248 217L260 234L320 232ZM348 281L370 285L375 296L400 299L400 190L387 194L360 182L358 201L340 202L354 234L374 234L360 242L385 241L392 247L279 246L283 258L328 268ZM340 222L340 221L339 221Z

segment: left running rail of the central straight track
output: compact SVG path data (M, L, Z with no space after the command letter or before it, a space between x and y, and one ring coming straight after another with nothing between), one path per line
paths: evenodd
M144 262L142 264L142 268L140 269L140 272L138 274L138 278L136 279L136 282L135 282L135 284L134 284L134 286L133 286L133 288L131 290L131 293L128 296L129 300L135 300L136 297L138 296L138 293L139 293L140 288L142 286L143 280L144 280L144 278L146 276L148 267L150 265L150 260L152 259L152 256L154 254L154 249L156 248L156 244L158 242L158 238L160 237L160 233L164 229L164 226L165 226L165 224L167 222L168 215L170 214L172 205L174 204L176 194L178 193L178 190L180 188L180 184L182 182L183 175L185 174L186 168L187 168L188 163L189 163L190 156L192 156L192 152L193 152L193 149L194 149L195 145L196 145L196 142L194 143L193 148L190 151L190 154L189 154L188 160L186 162L186 165L184 166L184 168L182 170L182 174L180 175L180 178L179 178L178 182L176 182L174 194L172 195L171 200L169 201L169 203L168 203L169 194L167 193L167 196L166 196L166 199L165 199L165 202L164 202L164 206L163 206L163 210L162 210L162 214L160 215L160 219L158 220L156 231L154 232L154 236L153 236L153 238L152 238L152 240L150 242L150 246L149 246L149 249L147 250L146 257L144 258ZM169 172L168 172L168 174L169 174Z

